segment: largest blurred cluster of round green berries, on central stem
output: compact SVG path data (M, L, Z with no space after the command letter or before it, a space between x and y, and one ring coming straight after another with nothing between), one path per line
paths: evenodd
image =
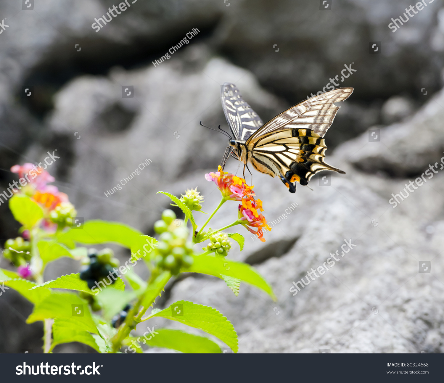
M174 211L166 209L162 220L154 224L155 232L160 234L156 247L155 265L177 275L182 267L193 264L193 244L187 242L188 229L184 221L177 219Z

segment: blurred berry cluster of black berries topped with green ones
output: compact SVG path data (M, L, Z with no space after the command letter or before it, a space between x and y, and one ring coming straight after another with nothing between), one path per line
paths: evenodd
M88 288L93 288L96 282L106 277L109 277L108 281L111 280L111 283L114 283L114 278L111 277L110 273L114 271L113 268L117 267L119 267L119 260L114 258L111 249L107 248L99 252L96 249L90 249L88 257L82 260L80 279L87 281Z

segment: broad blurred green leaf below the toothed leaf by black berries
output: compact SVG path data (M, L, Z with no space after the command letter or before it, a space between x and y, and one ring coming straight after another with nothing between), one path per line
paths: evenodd
M39 289L36 289L36 291L39 291ZM83 316L77 316L76 313L83 314ZM53 292L34 306L34 310L26 323L33 323L46 318L67 319L71 325L76 323L77 330L98 334L87 302L77 294Z

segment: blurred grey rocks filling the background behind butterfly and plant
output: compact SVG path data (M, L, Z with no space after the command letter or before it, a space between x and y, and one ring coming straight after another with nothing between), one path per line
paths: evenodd
M313 178L313 191L298 186L290 194L254 172L275 224L265 244L242 229L245 249L234 244L229 257L255 265L278 302L249 286L236 297L223 281L190 276L171 283L156 304L210 304L234 324L240 352L443 352L442 172L389 204L443 156L443 1L424 0L396 29L391 19L405 20L408 1L129 0L103 28L91 27L118 3L0 3L0 190L16 179L11 166L37 164L57 150L48 171L78 216L154 235L169 206L158 190L178 195L197 186L204 211L218 202L204 174L217 169L227 142L199 121L227 128L222 83L235 83L263 121L328 83L354 87L325 136L327 162L345 176L333 174L325 186ZM122 190L107 194L147 160ZM237 167L231 160L226 169ZM222 225L237 214L228 205ZM18 228L1 204L2 243ZM289 292L350 238L357 247L331 271L296 296ZM423 261L431 271L421 272ZM12 269L5 259L0 266ZM56 261L45 279L78 269ZM41 323L24 323L31 311L12 289L0 296L0 352L41 352ZM70 344L55 352L91 349Z

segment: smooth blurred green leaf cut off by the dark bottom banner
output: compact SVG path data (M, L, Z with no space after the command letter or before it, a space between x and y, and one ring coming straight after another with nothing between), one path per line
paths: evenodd
M143 344L146 343L151 347L170 348L186 354L221 353L221 349L218 344L204 336L193 335L180 330L170 330L166 328L160 328L159 330L153 329L153 333L154 336L152 336L150 332L145 332L145 336L140 336L139 341L143 341ZM131 340L138 342L137 339L138 338L131 338Z

